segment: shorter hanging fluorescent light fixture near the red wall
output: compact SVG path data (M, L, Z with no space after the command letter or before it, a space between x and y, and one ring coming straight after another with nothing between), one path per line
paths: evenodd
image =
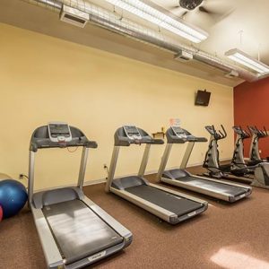
M234 60L240 65L247 66L248 68L256 71L258 74L269 73L268 65L263 64L251 56L248 56L245 52L239 50L238 48L230 49L225 53L225 56L228 56L231 60Z

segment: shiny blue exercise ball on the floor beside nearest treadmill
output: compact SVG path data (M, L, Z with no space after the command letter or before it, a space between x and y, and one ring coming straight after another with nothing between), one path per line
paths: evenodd
M0 204L4 219L19 213L26 203L27 197L26 188L22 183L14 179L0 181Z

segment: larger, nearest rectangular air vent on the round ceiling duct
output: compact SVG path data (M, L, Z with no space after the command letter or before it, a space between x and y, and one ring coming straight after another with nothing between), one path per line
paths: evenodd
M60 13L61 21L83 28L89 19L90 16L88 13L84 13L78 9L63 4L62 11Z

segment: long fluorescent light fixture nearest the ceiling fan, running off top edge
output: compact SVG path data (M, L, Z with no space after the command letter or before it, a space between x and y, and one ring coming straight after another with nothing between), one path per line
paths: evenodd
M140 0L106 0L110 4L114 4L129 13L133 13L140 18L152 22L166 30L169 30L180 37L188 39L195 43L200 43L208 38L208 33L198 29L182 20L175 20L166 13L162 13L158 9L147 4L146 1Z

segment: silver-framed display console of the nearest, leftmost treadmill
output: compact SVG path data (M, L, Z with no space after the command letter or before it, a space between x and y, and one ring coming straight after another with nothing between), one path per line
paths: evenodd
M70 127L65 122L48 123L48 135L52 142L65 143L72 141Z

